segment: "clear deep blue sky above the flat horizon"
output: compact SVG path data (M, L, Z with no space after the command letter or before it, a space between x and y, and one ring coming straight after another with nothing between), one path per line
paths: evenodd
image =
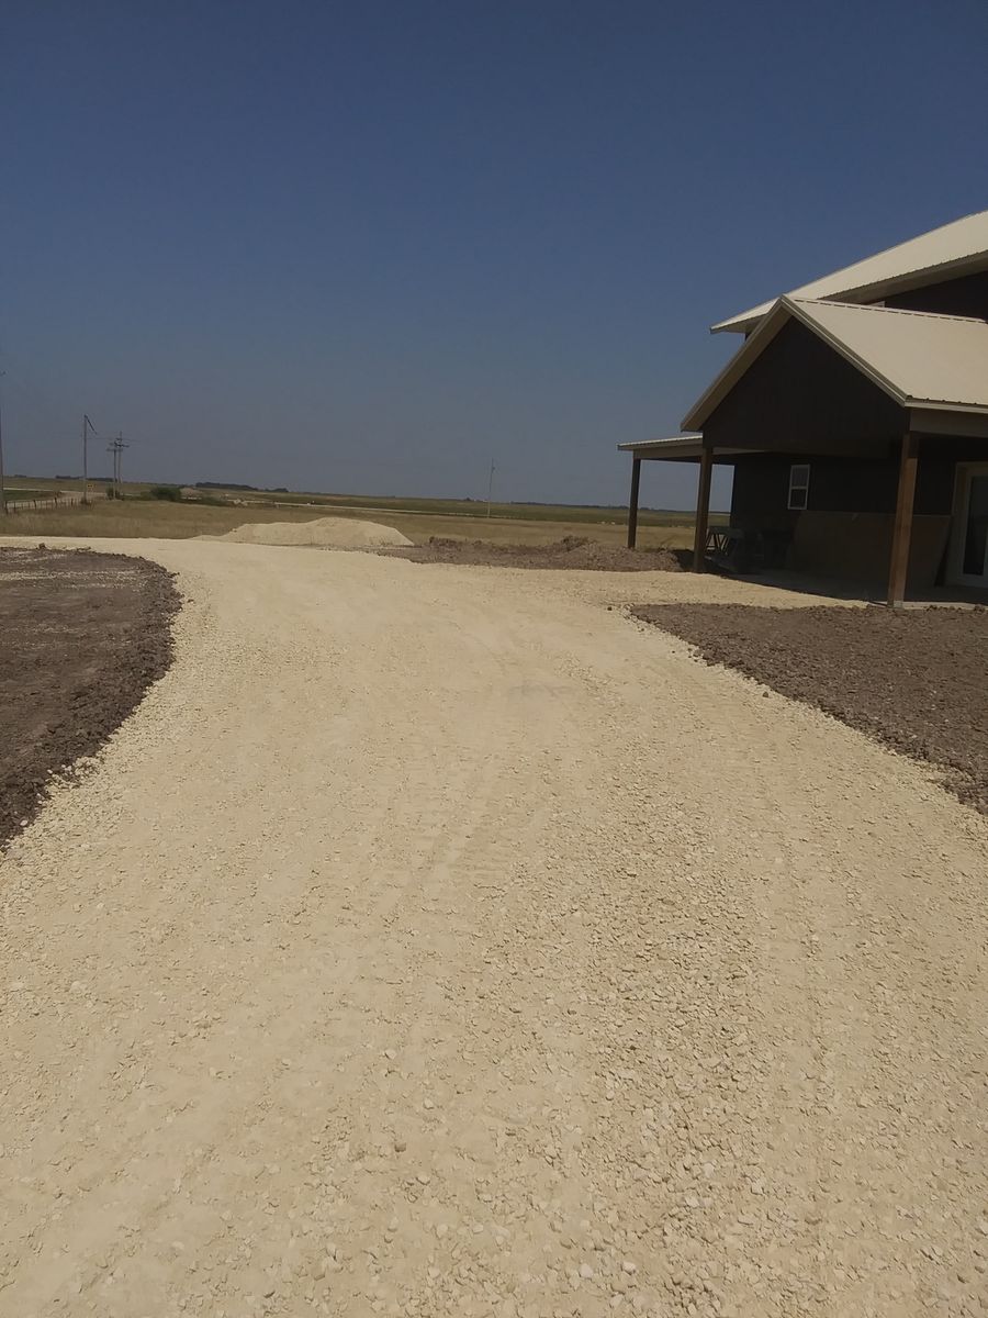
M5 0L0 46L9 471L86 410L136 478L623 501L713 320L988 207L985 0Z

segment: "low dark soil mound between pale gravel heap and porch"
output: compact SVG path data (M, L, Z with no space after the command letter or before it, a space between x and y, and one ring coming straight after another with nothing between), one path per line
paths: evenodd
M453 540L433 535L428 544L386 552L412 563L460 563L489 568L680 572L684 565L672 550L624 550L601 544L585 535L566 535L551 544L494 544L489 540Z

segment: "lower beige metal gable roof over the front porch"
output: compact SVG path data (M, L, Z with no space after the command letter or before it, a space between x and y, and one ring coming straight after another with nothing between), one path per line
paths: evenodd
M988 411L988 323L926 311L780 298L696 403L700 430L790 319L801 320L902 407Z

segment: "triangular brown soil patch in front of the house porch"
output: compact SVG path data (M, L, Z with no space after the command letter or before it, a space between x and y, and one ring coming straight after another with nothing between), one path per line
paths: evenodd
M946 787L988 813L988 609L668 604L632 612L707 663L935 764Z

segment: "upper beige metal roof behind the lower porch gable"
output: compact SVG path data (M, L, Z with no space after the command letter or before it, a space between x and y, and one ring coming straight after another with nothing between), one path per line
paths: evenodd
M900 243L855 265L844 266L821 279L804 283L788 294L790 298L839 298L843 302L877 301L888 294L921 287L937 277L958 278L975 269L988 269L988 211L966 215L939 229ZM713 332L748 331L767 315L775 301L721 320Z

